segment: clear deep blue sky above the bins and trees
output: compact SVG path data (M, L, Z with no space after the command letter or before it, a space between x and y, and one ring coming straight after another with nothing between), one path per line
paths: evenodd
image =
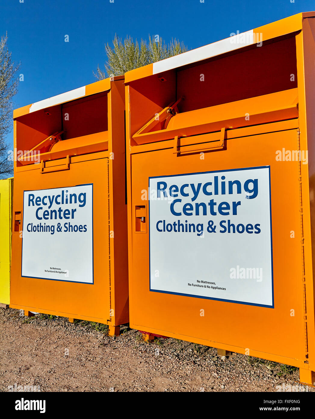
M8 32L24 75L14 107L96 81L92 72L104 64L104 44L115 34L159 34L166 43L176 37L192 49L315 9L314 0L291 1L0 0L0 34Z

